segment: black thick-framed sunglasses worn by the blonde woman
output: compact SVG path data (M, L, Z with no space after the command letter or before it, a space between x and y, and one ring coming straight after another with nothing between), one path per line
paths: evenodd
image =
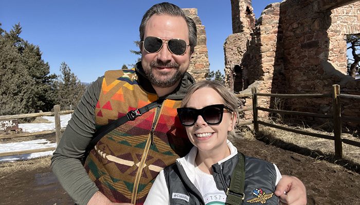
M217 125L223 119L224 109L231 111L223 104L206 106L202 109L194 108L177 108L177 115L183 126L192 126L195 124L197 117L201 115L208 125Z

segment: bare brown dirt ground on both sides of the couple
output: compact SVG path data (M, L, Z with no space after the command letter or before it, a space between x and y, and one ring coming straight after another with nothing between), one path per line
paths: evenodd
M357 172L255 139L239 139L234 144L246 155L276 163L282 174L301 179L308 204L360 204ZM30 172L16 171L16 167L7 170L0 169L0 204L74 204L48 167Z

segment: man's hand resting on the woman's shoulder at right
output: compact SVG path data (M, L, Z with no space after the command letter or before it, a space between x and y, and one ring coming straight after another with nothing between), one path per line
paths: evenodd
M280 198L280 204L307 204L305 186L300 179L295 176L282 175L282 178L276 186L275 195Z

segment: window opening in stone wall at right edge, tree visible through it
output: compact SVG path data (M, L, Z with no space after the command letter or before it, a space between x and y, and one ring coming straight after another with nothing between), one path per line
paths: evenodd
M360 33L346 35L348 75L360 79Z

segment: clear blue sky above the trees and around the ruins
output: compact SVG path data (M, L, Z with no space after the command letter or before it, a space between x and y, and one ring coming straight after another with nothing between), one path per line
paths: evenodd
M106 70L134 64L139 56L138 28L142 15L163 1L70 1L70 0L0 0L0 23L6 31L19 23L20 37L38 45L42 58L50 65L50 73L59 74L62 61L78 78L90 83ZM224 65L223 44L231 28L230 0L175 0L181 8L197 8L205 26L210 70ZM253 0L258 18L268 5L279 0Z

